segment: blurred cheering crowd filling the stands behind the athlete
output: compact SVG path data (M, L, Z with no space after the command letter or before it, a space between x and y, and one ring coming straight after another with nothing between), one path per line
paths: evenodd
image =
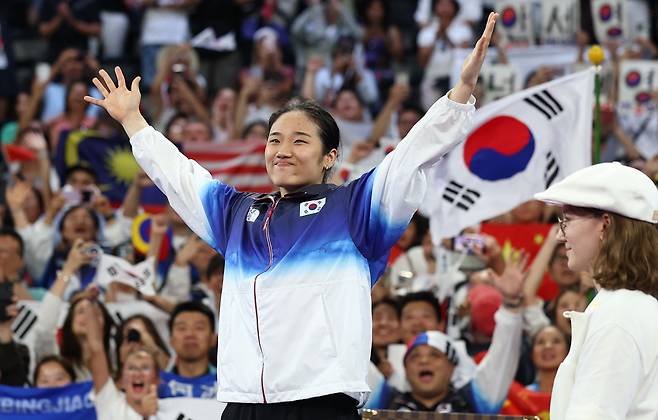
M599 42L590 2L576 3L569 71ZM647 156L638 139L658 142L658 90L641 118L615 112L621 63L658 57L658 7L644 3L648 37L602 42L601 155L657 181L658 154ZM134 160L117 157L108 178L107 168L77 159L89 136L129 145L121 126L83 100L101 98L90 83L99 69L140 75L142 114L183 150L265 143L273 112L315 100L340 129L329 181L342 184L382 162L447 93L455 53L472 48L493 8L486 0L4 2L0 384L89 384L101 419L146 418L170 398L216 398L224 258L169 205L151 205L153 181ZM507 62L509 42L497 29L494 60ZM536 63L523 87L563 70ZM476 106L487 95L478 85ZM567 266L558 211L525 202L453 238L432 238L431 216L416 213L372 288L365 407L545 414L570 345L562 313L584 310L596 294L590 273ZM536 249L510 249L494 233L500 225L519 227ZM107 274L110 256L122 260L113 267L144 271Z

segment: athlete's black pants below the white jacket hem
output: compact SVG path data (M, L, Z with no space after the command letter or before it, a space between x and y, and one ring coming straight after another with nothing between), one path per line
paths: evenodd
M222 420L359 420L356 400L331 394L272 404L228 403Z

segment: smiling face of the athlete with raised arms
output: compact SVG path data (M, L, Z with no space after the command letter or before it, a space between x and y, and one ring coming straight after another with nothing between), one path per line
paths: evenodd
M336 162L336 149L325 153L318 126L303 111L281 115L265 147L267 174L282 194L321 184Z

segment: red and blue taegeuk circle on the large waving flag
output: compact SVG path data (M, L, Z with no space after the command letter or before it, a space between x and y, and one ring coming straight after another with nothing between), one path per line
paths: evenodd
M518 119L503 115L478 127L464 143L464 164L477 177L499 181L523 172L535 152L535 136Z

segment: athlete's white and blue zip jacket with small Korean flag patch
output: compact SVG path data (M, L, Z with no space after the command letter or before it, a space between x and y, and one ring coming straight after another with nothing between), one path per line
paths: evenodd
M370 288L419 207L428 169L462 141L475 99L439 99L373 171L286 195L213 180L152 127L133 153L169 203L226 259L218 398L274 403L346 393L365 402Z

